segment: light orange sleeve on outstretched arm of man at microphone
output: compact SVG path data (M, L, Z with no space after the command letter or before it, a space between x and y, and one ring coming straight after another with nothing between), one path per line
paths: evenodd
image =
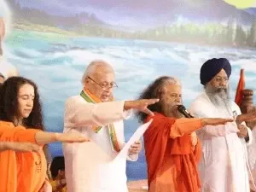
M182 137L184 134L190 134L195 130L199 130L203 127L201 123L201 119L193 118L193 119L177 119L175 123L172 125L172 129L170 132L170 137L175 139L177 137Z

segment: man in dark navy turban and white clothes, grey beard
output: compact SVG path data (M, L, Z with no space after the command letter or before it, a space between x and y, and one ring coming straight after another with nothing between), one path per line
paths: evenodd
M252 141L245 123L253 113L241 115L240 108L229 97L231 65L227 59L212 59L201 67L201 84L205 91L190 106L190 112L201 118L234 118L234 123L207 125L197 131L202 143L198 166L202 192L249 192L247 144ZM246 143L247 142L247 143Z

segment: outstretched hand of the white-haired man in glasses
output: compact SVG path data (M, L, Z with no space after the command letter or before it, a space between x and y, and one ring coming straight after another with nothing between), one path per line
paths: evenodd
M127 101L125 102L125 110L136 109L143 113L147 113L149 115L154 115L152 111L148 109L149 105L153 105L155 102L159 102L159 99L141 99L136 101Z

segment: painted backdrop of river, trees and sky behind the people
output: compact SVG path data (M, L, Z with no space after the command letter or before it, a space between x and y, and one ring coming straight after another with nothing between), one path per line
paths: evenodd
M241 67L247 88L256 88L256 9L252 1L244 3L8 0L9 9L0 5L9 23L3 56L38 84L49 131L63 130L64 102L79 94L82 73L95 59L112 63L117 99L137 98L155 78L171 75L182 80L183 102L189 106L202 90L202 63L227 57L234 98ZM125 121L126 139L137 125L137 119ZM50 151L61 154L61 144L50 145ZM127 174L130 180L147 177L144 152L136 163L128 162Z

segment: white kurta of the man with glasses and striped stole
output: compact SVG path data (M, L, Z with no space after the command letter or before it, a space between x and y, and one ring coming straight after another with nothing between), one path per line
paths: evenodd
M108 128L103 126L98 133L92 125L113 123L119 145L125 145L123 119L130 113L124 112L125 102L88 103L81 96L72 96L66 102L64 132L79 132L95 142L109 156L113 151ZM84 150L86 143L67 143L63 145L67 192L127 192L126 160L116 160L110 167L91 168L90 154ZM129 160L129 158L128 158ZM137 155L130 160L137 160Z

